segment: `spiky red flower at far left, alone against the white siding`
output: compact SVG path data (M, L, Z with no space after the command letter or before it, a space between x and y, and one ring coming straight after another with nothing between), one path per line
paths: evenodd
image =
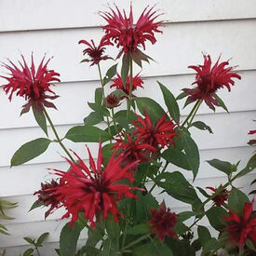
M38 112L42 112L44 107L56 108L52 102L47 101L54 100L59 96L56 96L55 93L49 88L52 82L60 82L61 80L56 76L60 74L54 72L53 70L47 70L47 64L50 59L44 63L45 57L39 64L37 71L34 68L34 58L32 55L32 63L29 68L23 55L21 55L23 63L20 62L20 68L17 67L12 61L9 61L9 65L3 64L4 67L10 72L10 76L2 76L7 79L7 85L4 86L6 93L10 92L9 100L12 100L13 93L16 92L16 95L25 98L28 101L23 105L21 114L28 112L33 106ZM48 93L53 94L53 96L47 95Z

